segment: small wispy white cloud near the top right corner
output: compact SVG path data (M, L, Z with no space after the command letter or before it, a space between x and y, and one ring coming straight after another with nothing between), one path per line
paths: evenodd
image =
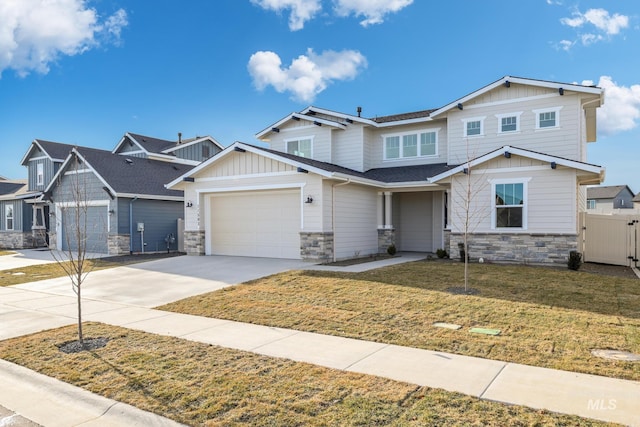
M560 22L577 31L588 28L587 32L578 35L578 40L584 46L606 40L629 27L628 16L619 13L610 15L605 9L589 9L585 13L576 11L571 18L562 18ZM568 50L567 48L563 49Z

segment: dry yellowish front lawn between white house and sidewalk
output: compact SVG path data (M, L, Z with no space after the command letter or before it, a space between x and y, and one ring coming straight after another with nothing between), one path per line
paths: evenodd
M419 261L365 273L294 271L160 307L554 369L640 380L640 281L525 266L471 266L476 296L452 295L461 263ZM435 328L456 323L459 331ZM471 327L500 336L470 334Z

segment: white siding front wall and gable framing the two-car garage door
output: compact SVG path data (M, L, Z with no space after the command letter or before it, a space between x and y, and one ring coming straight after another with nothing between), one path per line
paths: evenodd
M301 231L323 230L322 178L313 173L300 173L296 168L251 152L231 153L201 170L195 182L182 186L185 207L185 230L202 231L205 227L205 197L212 193L232 193L270 189L299 188L302 210ZM303 203L307 197L313 203ZM215 220L215 212L211 213Z

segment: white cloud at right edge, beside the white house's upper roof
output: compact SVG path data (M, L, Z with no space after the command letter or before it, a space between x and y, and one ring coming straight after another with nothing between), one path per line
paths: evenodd
M611 135L636 128L640 121L640 85L618 86L610 76L602 76L598 86L605 90L604 105L598 109L600 132Z

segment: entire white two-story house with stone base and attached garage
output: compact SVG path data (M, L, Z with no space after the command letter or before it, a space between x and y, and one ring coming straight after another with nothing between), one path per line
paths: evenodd
M604 179L586 163L603 101L598 87L507 76L433 110L308 107L256 135L269 149L236 142L168 184L185 191L185 250L457 256L469 212L471 257L564 263L584 186Z

